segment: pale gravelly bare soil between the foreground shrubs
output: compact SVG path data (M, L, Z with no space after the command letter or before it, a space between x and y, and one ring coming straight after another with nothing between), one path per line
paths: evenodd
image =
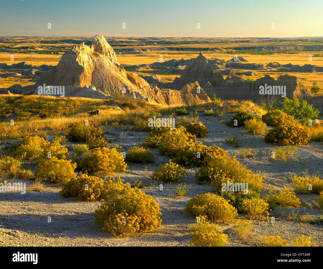
M319 142L309 142L306 146L298 147L293 155L294 160L270 161L267 151L275 146L265 144L264 137L255 137L243 128L227 127L221 120L229 120L233 114L223 117L203 116L199 113L199 120L209 130L206 137L199 138L205 145L219 145L228 152L229 156L237 156L237 159L247 168L253 171L266 173L263 182L263 192L268 193L272 188L280 189L287 186L291 188L289 177L291 172L301 174L305 169L309 174L323 175L323 145ZM125 138L117 138L126 134ZM243 148L253 148L257 151L253 158L242 158L238 148L228 145L224 139L228 136L236 136L242 141ZM121 130L111 128L108 138L112 138L111 144L122 145L125 150L132 146L141 146L145 132ZM68 143L72 148L73 143ZM131 238L115 238L97 228L94 223L94 210L98 202L83 202L74 198L63 199L58 194L61 186L47 184L43 192L0 193L0 245L1 246L189 246L191 236L188 234L188 226L194 224L194 218L189 216L185 207L189 199L196 194L212 192L212 187L207 183L198 183L195 179L194 169L186 169L187 177L182 183L191 185L192 188L187 197L178 197L171 187L164 185L164 190L159 191L159 182L151 182L150 175L159 164L168 162L169 158L160 156L158 150L151 149L155 156L155 164L128 164L129 167L120 176L126 182L131 178L139 178L143 183L151 184L150 187L142 188L146 194L151 195L157 201L162 212L162 225L156 231L147 232ZM147 171L145 168L148 167ZM32 181L24 181L32 183ZM233 225L222 225L224 233L229 234L229 245L231 246L259 246L264 236L280 235L282 239L290 242L301 235L312 236L312 242L323 245L323 232L320 225L310 222L288 221L287 217L292 210L300 214L308 212L313 219L320 216L315 201L318 195L297 194L301 200L301 206L297 209L286 209L283 217L282 209L276 208L270 212L275 216L276 222L272 224L270 219L265 221L253 221L254 231L246 241L242 241L232 233ZM47 218L51 217L51 223ZM246 219L240 214L238 218ZM299 215L297 216L299 219ZM230 237L231 234L231 237Z

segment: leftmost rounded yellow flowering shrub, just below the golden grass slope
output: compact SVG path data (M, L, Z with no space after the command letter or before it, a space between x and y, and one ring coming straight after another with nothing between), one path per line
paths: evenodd
M45 148L48 145L50 145L49 141L38 135L27 136L19 143L13 156L28 161L38 160L44 156Z

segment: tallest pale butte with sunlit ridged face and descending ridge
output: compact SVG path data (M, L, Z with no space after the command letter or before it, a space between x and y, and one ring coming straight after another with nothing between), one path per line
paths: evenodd
M57 66L44 72L35 85L25 87L24 91L44 94L44 85L64 86L65 96L73 97L102 99L119 93L149 102L177 105L209 100L203 90L194 92L195 84L192 89L179 89L181 91L161 90L149 85L136 73L129 73L120 66L111 46L98 35L91 46L83 43L63 54Z

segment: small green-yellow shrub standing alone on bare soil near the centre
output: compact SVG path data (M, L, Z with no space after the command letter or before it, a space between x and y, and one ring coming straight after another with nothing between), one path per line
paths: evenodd
M178 164L169 160L168 164L157 167L152 172L151 178L162 182L180 182L187 176L187 172Z

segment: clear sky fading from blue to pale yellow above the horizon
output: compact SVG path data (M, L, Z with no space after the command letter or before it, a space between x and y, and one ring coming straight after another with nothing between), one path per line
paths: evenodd
M0 7L0 36L323 36L323 0L0 0Z

